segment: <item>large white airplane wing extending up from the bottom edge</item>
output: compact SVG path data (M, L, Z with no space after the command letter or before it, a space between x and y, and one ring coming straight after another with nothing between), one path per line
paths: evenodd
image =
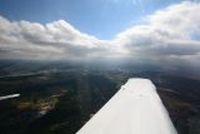
M156 87L132 78L77 134L177 134Z

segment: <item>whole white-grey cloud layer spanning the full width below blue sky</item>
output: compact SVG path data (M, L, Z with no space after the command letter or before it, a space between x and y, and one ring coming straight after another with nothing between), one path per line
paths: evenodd
M199 66L200 4L182 2L143 18L112 40L82 33L68 22L48 24L0 17L1 59L129 58Z

